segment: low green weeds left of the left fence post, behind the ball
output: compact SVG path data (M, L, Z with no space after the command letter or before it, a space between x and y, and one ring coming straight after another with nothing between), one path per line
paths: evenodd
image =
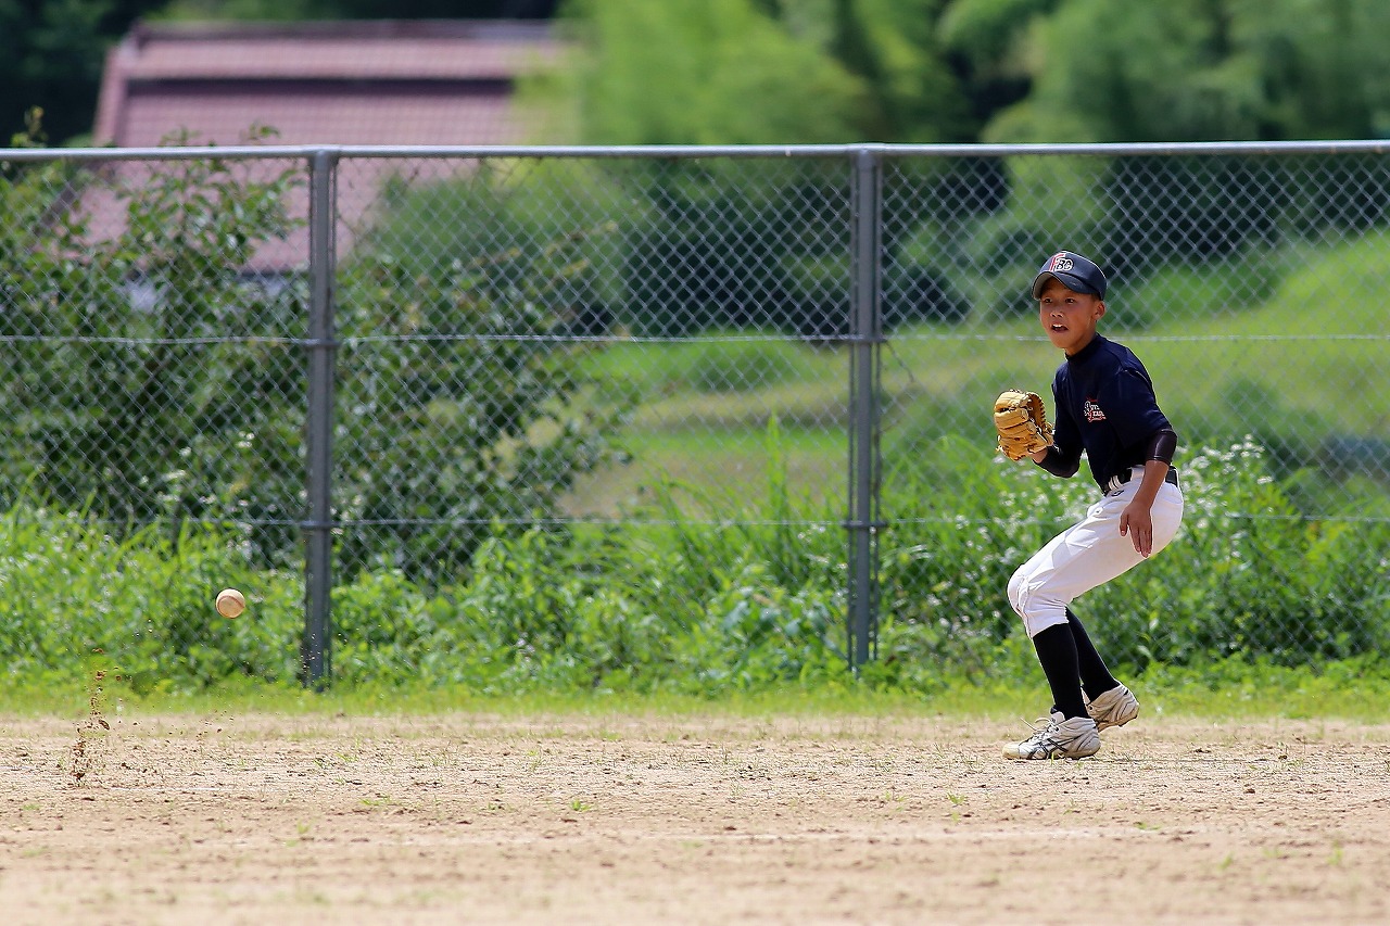
M303 627L299 578L252 570L217 530L115 538L82 513L21 502L0 516L0 652L11 683L79 679L117 667L136 691L210 685L235 676L292 683ZM213 596L245 588L246 620Z

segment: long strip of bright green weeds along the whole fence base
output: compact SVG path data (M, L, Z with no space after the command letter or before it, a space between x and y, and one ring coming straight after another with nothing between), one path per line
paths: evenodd
M984 481L998 503L948 516L920 507L884 539L878 658L865 679L930 691L962 674L1027 670L1005 584L1094 487L952 441L923 470L942 491ZM1379 658L1390 644L1387 521L1294 516L1250 444L1197 455L1183 478L1188 510L1173 545L1076 603L1116 665ZM498 531L467 580L439 592L399 570L361 573L334 592L335 684L719 695L848 681L834 513L792 499L776 470L742 523L689 516L699 499L680 498L688 492L657 494L659 526ZM712 510L727 510L719 503ZM143 690L297 673L302 580L249 570L235 537L115 541L81 516L32 506L0 519L0 533L11 680L78 677L93 659ZM211 609L222 584L249 592L236 622Z

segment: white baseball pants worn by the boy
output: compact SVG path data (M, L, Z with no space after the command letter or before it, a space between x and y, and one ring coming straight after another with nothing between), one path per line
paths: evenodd
M1144 562L1130 537L1120 534L1120 512L1138 491L1143 470L1106 492L1066 528L1019 566L1009 580L1009 603L1023 619L1029 638L1066 623L1066 606L1083 592L1104 585ZM1183 520L1183 492L1163 482L1154 498L1154 553L1177 535Z

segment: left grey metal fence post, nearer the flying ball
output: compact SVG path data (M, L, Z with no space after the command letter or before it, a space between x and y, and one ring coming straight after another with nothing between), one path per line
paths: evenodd
M331 674L332 435L334 435L334 214L338 153L310 159L309 200L309 407L304 427L309 520L304 521L303 681L320 685Z

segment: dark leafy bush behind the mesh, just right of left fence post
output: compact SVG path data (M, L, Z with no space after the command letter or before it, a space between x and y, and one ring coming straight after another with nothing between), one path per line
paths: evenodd
M484 171L400 189L343 261L334 489L349 576L450 583L492 521L553 517L613 453L626 391L598 396L567 331L594 298L588 249L613 229L525 222L505 186Z

